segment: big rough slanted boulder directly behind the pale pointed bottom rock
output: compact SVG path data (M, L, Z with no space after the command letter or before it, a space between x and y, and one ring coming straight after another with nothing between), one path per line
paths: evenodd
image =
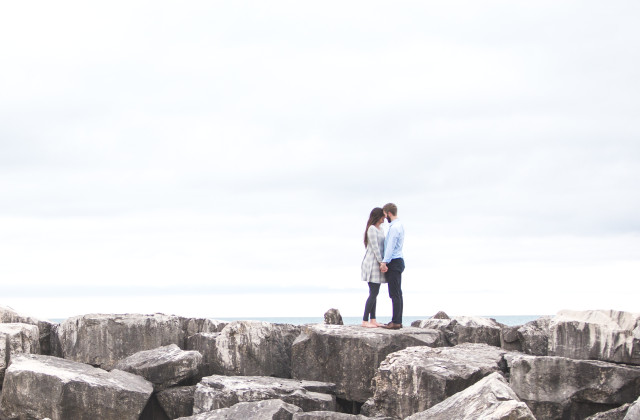
M392 353L380 365L373 398L362 413L405 418L424 411L485 376L506 370L505 356L501 348L470 343Z

